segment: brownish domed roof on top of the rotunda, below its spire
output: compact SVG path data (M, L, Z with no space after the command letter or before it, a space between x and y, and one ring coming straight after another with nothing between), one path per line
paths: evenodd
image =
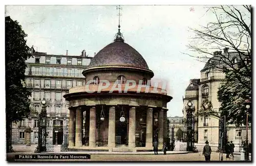
M144 58L123 40L106 45L92 59L88 68L99 66L132 66L149 69Z

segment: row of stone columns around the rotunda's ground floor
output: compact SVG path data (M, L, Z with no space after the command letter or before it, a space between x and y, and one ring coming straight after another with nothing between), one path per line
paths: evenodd
M131 106L129 110L129 148L135 148L135 132L136 132L136 107ZM166 111L159 110L158 115L158 145L162 149L164 138L166 138ZM109 107L109 131L108 131L108 147L115 147L116 136L116 108ZM83 110L81 108L70 108L69 121L69 147L82 147L82 123ZM153 108L146 110L146 144L145 148L152 148L153 146ZM89 147L96 146L96 107L90 107L90 129L89 129Z

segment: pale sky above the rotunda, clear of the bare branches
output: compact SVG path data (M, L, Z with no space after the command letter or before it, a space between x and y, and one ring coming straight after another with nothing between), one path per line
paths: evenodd
M188 55L186 45L198 28L215 21L204 6L121 6L121 32L153 70L156 79L168 81L167 115L182 116L185 89L200 78L204 63ZM47 54L89 56L113 42L118 29L116 6L6 6L6 15L22 25L27 45Z

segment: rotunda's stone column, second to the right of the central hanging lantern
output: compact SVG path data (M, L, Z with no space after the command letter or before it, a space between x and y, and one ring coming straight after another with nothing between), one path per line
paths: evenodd
M152 148L153 128L153 108L148 108L146 112L146 148Z

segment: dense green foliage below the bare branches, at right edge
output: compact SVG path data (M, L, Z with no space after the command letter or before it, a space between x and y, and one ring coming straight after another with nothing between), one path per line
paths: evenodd
M246 69L241 62L237 63L237 67L246 73ZM247 67L251 70L251 63L248 63ZM251 96L251 77L240 74L236 76L232 70L224 70L224 73L226 82L220 86L218 91L218 100L222 103L221 116L226 116L227 124L246 125L246 111L248 110L244 101L248 99L247 95ZM249 124L251 124L251 120L251 111L249 111Z

